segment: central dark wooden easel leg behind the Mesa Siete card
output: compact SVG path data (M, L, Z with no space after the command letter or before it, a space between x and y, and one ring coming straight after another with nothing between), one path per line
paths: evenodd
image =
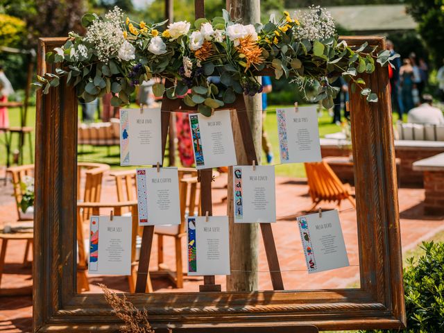
M200 170L200 207L202 214L213 214L212 196L211 196L211 182L213 178L212 169ZM221 285L215 284L214 275L205 275L203 277L203 284L199 286L199 291L221 291Z

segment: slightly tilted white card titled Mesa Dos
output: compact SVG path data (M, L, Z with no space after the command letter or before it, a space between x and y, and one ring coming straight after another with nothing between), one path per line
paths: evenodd
M196 169L236 165L236 151L230 110L216 111L211 117L189 114Z

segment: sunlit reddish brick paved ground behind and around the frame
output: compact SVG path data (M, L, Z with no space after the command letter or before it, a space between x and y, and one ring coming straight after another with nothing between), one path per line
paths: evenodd
M0 171L1 177L1 171ZM214 214L225 214L226 206L222 198L225 196L225 178L221 176L214 183ZM288 216L295 214L309 207L309 197L307 196L307 184L305 180L278 178L276 180L277 214L278 216ZM110 178L105 179L102 198L115 198L114 184ZM3 186L0 183L0 226L7 221L15 221L15 202L11 196L10 185ZM436 232L444 230L444 218L431 218L424 216L422 210L422 200L424 200L423 189L400 189L400 212L401 212L401 232L403 252L415 248L420 241L433 237ZM330 206L331 207L331 206ZM325 208L329 208L327 205ZM273 233L278 246L278 256L282 268L282 276L286 289L323 289L323 288L345 288L359 287L359 259L357 249L357 227L356 212L350 209L350 204L344 203L341 207L340 217L345 246L347 247L350 267L340 268L336 271L316 273L308 275L305 272L305 262L302 256L302 246L300 244L298 228L291 219L279 219L273 224ZM420 230L420 231L418 231ZM165 262L173 264L173 241L164 241ZM6 254L7 264L5 273L1 281L2 288L31 286L31 268L22 267L24 255L24 241L10 242L8 253ZM185 247L185 244L184 244ZM157 262L157 239L153 244L153 267ZM171 249L171 251L168 251ZM184 251L184 263L185 261ZM185 269L185 267L184 267ZM259 244L259 289L271 289L271 282L267 272L264 246ZM237 268L232 267L232 271ZM232 274L237 273L233 272ZM89 277L92 284L92 292L98 292L99 288L95 284L103 282L108 287L128 291L126 278L107 278L102 276ZM216 282L222 284L225 289L225 277L216 277ZM202 283L200 278L186 280L182 291L198 291L198 285ZM173 289L167 280L153 280L155 291L177 291ZM32 317L31 296L0 298L0 332L31 332Z

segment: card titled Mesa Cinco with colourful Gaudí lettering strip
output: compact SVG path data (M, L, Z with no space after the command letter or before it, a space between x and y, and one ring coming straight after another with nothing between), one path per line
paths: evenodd
M233 167L234 222L276 221L275 167Z

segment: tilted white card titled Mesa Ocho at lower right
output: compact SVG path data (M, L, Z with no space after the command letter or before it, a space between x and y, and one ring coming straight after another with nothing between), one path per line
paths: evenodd
M337 210L297 219L308 273L349 266Z

